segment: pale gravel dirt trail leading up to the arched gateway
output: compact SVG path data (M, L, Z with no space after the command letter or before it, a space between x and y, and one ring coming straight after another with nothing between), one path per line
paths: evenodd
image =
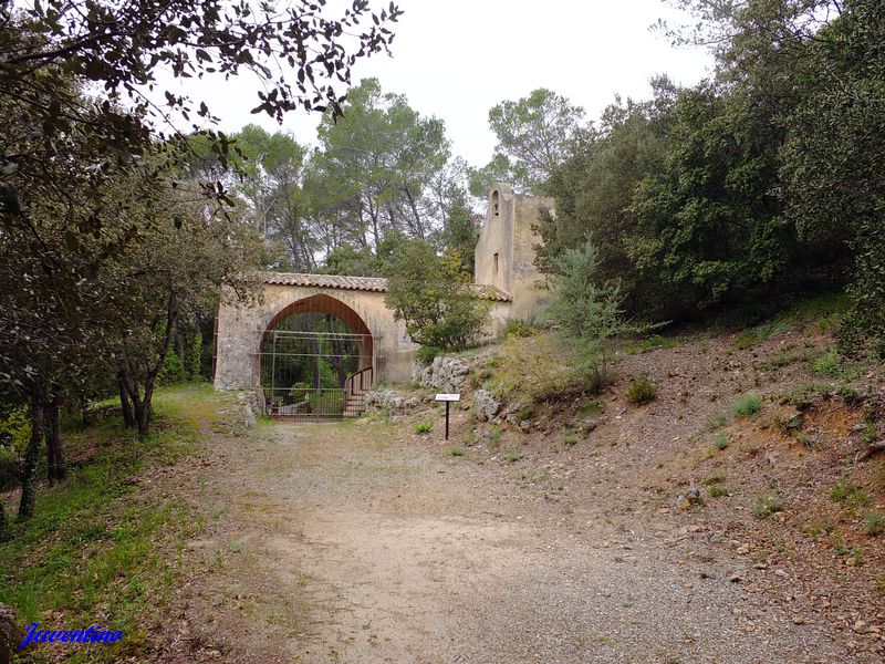
M874 661L586 481L366 421L214 445L168 661Z

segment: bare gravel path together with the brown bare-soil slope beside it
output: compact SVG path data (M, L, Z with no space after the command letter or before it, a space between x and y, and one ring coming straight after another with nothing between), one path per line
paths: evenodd
M184 486L206 528L156 660L882 662L882 538L833 512L826 537L865 552L850 564L803 535L837 509L826 491L856 448L856 413L815 411L814 435L839 440L821 452L762 416L725 425L731 443L711 452L697 433L732 395L773 395L802 370L756 366L782 338L738 357L710 343L624 360L604 418L575 444L562 427L580 430L580 404L480 443L464 411L449 443L439 411L211 434ZM628 406L642 371L660 393ZM428 418L430 434L412 433ZM725 495L706 492L710 478ZM704 504L680 505L693 485ZM784 505L759 520L766 490Z

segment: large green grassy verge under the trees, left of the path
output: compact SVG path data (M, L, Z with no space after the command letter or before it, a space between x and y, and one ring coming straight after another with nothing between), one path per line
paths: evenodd
M230 408L231 401L207 386L167 387L155 396L158 416L147 439L114 416L65 434L69 478L41 486L34 517L13 523L12 540L0 544L0 602L17 606L25 623L101 622L123 632L123 641L69 661L121 661L144 651L143 619L170 605L185 541L201 521L180 499L143 490L137 478L195 452L199 418L222 422L218 406Z

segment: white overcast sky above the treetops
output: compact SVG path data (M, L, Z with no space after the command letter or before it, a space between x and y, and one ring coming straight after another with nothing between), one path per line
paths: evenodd
M419 113L442 118L452 154L475 166L491 157L496 141L488 112L498 102L549 87L592 118L615 94L646 97L655 74L690 85L711 66L707 52L673 48L649 30L659 18L685 20L662 0L395 1L405 14L394 27L392 58L358 62L353 80L375 76ZM191 80L183 91L188 89L211 102L225 131L250 122L280 128L267 115L249 113L259 102L246 79L211 86ZM293 112L282 128L312 144L317 122L319 114Z

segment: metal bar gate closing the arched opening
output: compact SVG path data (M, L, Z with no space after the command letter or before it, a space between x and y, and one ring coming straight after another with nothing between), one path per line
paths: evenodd
M374 339L350 332L269 330L259 366L274 419L357 417L375 378Z

